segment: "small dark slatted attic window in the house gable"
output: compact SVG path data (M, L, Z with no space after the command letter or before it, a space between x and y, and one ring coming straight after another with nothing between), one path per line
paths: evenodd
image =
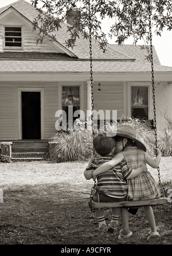
M5 46L22 47L21 27L5 27Z

